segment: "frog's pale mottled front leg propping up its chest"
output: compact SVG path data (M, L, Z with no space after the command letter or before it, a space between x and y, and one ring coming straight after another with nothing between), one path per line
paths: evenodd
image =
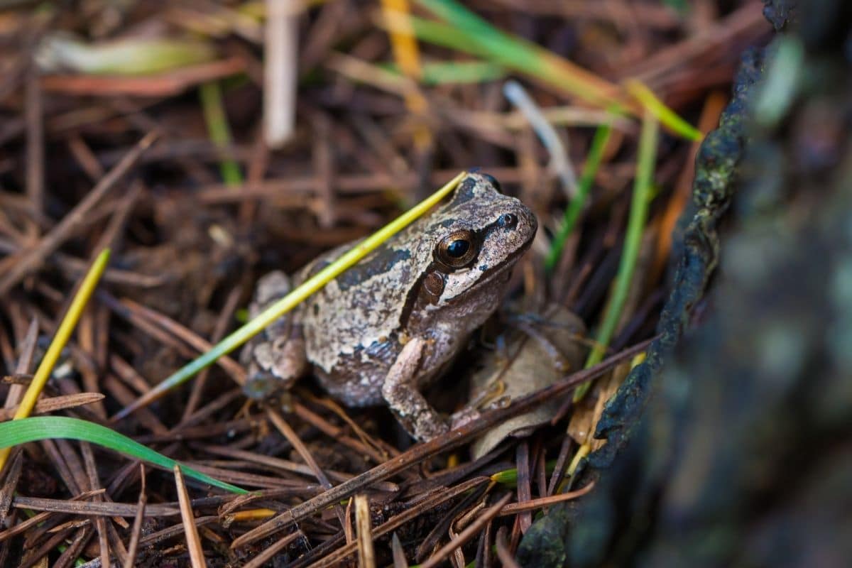
M449 430L447 423L417 389L417 373L426 347L426 340L420 337L408 341L382 385L382 396L390 410L402 427L419 441L433 439Z

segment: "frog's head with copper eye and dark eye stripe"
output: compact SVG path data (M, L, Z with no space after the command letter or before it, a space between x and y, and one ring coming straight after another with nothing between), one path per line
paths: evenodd
M464 178L449 203L426 222L423 245L431 246L432 263L421 296L436 307L458 303L483 287L502 289L538 228L526 205L481 173Z

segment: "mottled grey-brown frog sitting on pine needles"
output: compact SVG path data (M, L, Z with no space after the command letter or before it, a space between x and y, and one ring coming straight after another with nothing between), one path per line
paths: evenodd
M417 441L451 421L423 389L446 372L503 299L538 221L492 177L467 172L446 204L341 273L246 345L246 392L287 392L313 370L320 387L350 407L387 404ZM292 278L263 276L253 317L358 241L319 255Z

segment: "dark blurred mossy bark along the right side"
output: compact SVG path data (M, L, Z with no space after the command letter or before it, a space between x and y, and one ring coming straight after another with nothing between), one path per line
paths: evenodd
M522 565L852 558L848 4L767 3L780 35L702 146L662 335L607 404L596 490L533 525Z

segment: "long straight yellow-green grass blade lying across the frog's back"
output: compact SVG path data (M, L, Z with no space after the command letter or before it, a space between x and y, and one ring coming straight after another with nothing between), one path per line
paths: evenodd
M441 187L437 192L430 195L429 198L423 199L423 201L412 207L412 209L408 209L405 213L394 219L394 221L389 222L377 232L374 232L369 237L365 238L352 249L348 250L346 254L338 258L337 261L332 262L319 273L308 278L308 280L306 280L302 285L291 291L290 294L285 295L279 301L273 303L262 313L259 313L256 318L252 319L250 322L243 325L238 330L235 330L231 335L217 343L216 346L210 349L210 351L184 365L181 369L176 370L175 373L166 378L163 382L160 382L156 387L153 387L139 399L136 399L133 404L125 406L124 409L119 410L118 414L112 417L112 420L120 420L125 416L130 415L130 413L134 410L138 410L143 406L147 406L147 404L151 404L164 393L167 393L171 388L177 387L183 382L188 381L192 376L198 373L199 370L210 366L210 364L216 362L216 359L219 359L222 355L231 353L234 349L245 343L245 341L256 336L282 314L289 312L293 309L293 307L296 307L299 303L304 301L309 295L314 294L314 292L320 290L320 288L325 286L325 284L328 284L331 280L337 278L338 274L343 273L343 271L348 267L351 267L355 262L364 258L371 252L371 250L375 250L380 244L394 235L395 232L399 232L403 227L406 227L412 221L417 219L417 217L423 215L436 204L440 203L441 199L445 198L446 195L458 186L458 182L462 180L466 173L467 172L461 172L451 181L447 182L446 185Z

